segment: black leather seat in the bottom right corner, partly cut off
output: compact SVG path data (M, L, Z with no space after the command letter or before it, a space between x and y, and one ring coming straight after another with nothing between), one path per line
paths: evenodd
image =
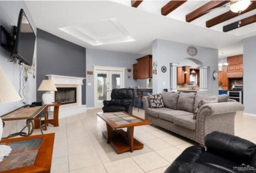
M256 173L256 145L227 133L205 136L205 146L191 146L165 173Z

